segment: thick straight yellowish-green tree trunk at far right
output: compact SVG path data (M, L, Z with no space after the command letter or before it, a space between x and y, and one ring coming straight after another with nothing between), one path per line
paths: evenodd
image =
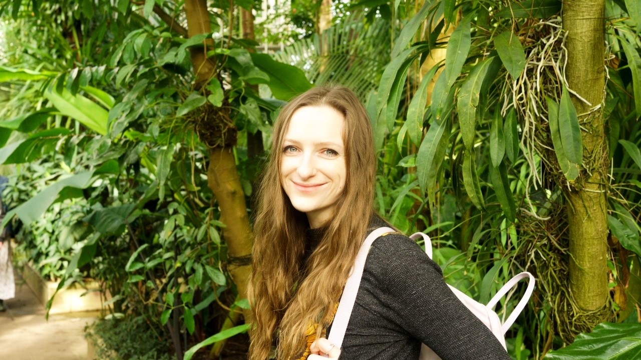
M584 311L598 311L608 300L609 168L603 111L604 0L563 1L567 31L569 87L591 105L572 96L583 128L583 171L576 186L566 190L570 231L570 290ZM597 320L597 319L594 319Z

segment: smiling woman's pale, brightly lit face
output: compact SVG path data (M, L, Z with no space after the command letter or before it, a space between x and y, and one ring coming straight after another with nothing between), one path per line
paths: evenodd
M345 117L330 106L294 111L281 147L280 177L294 208L312 229L326 224L347 180Z

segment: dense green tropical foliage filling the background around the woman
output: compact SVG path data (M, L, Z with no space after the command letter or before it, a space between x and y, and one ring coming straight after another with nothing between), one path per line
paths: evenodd
M574 313L563 299L564 189L580 184L589 161L563 82L560 1L340 3L345 13L320 35L316 5L292 3L305 36L292 35L278 62L239 35L237 10L259 2L210 1L212 33L187 39L181 2L0 1L0 162L15 169L5 194L24 224L26 258L61 287L101 281L112 311L142 315L178 359L245 331L231 327L247 301L229 273L238 259L228 256L208 153L233 148L251 213L278 107L310 83L337 81L358 92L374 123L379 213L429 233L447 281L481 301L516 272L535 273L510 354L562 347L582 330L568 329ZM605 10L603 256L607 311L623 320L636 318L641 295L641 13L635 1ZM203 44L215 76L196 84L192 56ZM446 56L429 63L437 50Z

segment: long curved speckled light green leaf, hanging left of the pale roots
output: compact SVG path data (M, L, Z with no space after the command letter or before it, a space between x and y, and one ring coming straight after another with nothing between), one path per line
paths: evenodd
M481 85L485 80L488 65L492 58L486 59L476 65L458 92L456 108L461 126L461 135L466 149L472 149L474 135L476 135L476 108L481 95ZM445 68L447 69L447 67Z

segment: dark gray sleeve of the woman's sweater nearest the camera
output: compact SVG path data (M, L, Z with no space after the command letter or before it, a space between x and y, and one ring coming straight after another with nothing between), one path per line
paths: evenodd
M390 313L388 320L442 360L510 359L413 240L401 234L382 236L374 241L367 263L365 271L380 286L378 296Z

